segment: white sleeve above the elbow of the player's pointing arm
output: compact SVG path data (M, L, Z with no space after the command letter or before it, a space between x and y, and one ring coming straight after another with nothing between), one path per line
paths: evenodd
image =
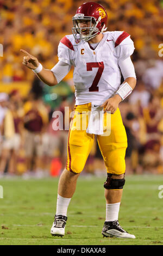
M53 72L54 76L57 79L57 82L59 83L68 74L70 69L71 64L59 60L59 62L55 66L53 66L51 71Z

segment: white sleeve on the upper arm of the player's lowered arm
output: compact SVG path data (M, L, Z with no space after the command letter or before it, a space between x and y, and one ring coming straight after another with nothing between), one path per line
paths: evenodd
M119 59L118 65L121 69L124 80L126 80L126 78L128 78L128 77L136 78L134 65L133 65L133 62L131 61L130 57L128 57L126 59Z

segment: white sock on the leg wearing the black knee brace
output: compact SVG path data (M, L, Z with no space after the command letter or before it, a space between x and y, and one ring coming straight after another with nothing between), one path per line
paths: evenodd
M120 210L120 202L115 204L106 204L106 220L105 221L117 221L119 210Z

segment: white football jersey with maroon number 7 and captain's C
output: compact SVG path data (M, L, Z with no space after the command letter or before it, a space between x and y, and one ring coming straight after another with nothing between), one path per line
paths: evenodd
M58 58L74 66L76 105L101 104L113 96L121 84L118 61L134 52L134 43L126 32L103 33L95 50L88 42L66 35L58 46Z

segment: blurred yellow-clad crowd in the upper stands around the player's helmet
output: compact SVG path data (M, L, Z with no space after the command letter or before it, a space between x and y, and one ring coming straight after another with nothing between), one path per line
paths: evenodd
M0 42L4 48L0 63L1 81L33 80L32 72L22 66L21 48L51 69L58 62L59 41L72 33L72 17L83 2L0 0ZM135 44L133 60L142 74L153 65L149 63L151 58L158 56L158 45L163 34L163 4L159 0L95 2L102 4L108 13L108 31L127 31L131 35Z

